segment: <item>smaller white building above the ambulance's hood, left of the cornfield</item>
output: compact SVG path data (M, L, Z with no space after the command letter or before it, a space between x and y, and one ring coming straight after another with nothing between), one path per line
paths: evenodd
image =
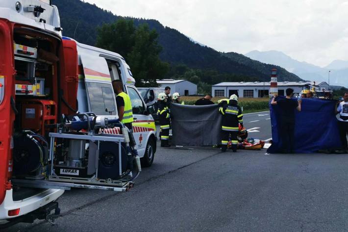
M188 80L162 79L156 80L159 87L171 87L171 94L177 92L181 96L190 96L197 94L197 85Z

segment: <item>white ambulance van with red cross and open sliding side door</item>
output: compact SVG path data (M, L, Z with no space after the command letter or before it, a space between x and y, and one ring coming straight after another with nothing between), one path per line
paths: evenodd
M75 41L68 37L65 40ZM133 135L142 166L149 167L156 152L156 127L148 107L134 86L128 64L115 52L106 51L75 41L78 53L78 111L94 112L106 118L118 118L116 99L111 82L122 80L124 92L130 97L133 108ZM119 128L105 129L110 134L120 134Z

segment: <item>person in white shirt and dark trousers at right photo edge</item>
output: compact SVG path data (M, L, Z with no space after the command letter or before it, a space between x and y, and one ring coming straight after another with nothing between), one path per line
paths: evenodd
M340 114L338 119L338 128L342 141L343 150L348 150L347 134L348 134L348 92L343 95L343 102L336 104L336 114Z

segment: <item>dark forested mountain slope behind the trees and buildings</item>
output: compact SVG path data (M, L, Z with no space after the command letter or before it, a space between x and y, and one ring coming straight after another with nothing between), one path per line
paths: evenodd
M120 18L110 11L80 0L52 0L52 4L58 7L63 35L93 46L96 43L97 28L103 23L113 23ZM171 65L168 77L182 77L182 74L175 73L175 71L182 70L180 68L182 66L187 66L186 69L195 70L196 73L209 72L210 74L223 76L224 81L240 81L243 79L269 81L270 79L270 70L271 67L274 67L272 65L261 67L262 65L260 66L257 61L241 62L240 59L235 59L232 56L227 57L226 54L223 55L214 49L192 42L184 34L163 26L156 20L135 18L132 18L132 20L135 26L146 23L150 29L157 31L159 35L158 43L163 47L160 58ZM176 66L179 66L179 68L177 69ZM299 77L285 70L281 72L280 80L300 80ZM208 78L208 82L205 83L215 84L220 82L217 77Z

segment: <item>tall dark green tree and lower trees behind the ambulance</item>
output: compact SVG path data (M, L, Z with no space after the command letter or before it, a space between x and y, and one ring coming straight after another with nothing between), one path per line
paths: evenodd
M193 69L185 64L161 61L158 33L144 23L119 19L97 29L96 46L121 54L131 67L138 87L156 87L156 79L185 79L198 85L198 93L210 93L211 85L223 81L256 81L257 77L221 73L213 69Z

